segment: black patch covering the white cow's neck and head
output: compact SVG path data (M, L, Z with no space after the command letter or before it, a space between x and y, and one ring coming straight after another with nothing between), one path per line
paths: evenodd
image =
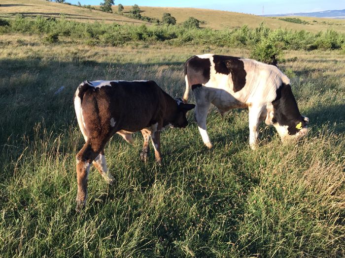
M306 126L307 123L298 110L290 85L282 84L276 90L276 99L272 104L275 109L275 115L272 122L278 122L282 126L287 125L289 135L295 135L299 131L296 125L300 122L302 122L302 127Z

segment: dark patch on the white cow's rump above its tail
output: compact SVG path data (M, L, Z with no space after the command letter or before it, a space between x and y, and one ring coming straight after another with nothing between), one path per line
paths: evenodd
M184 64L184 74L189 85L206 84L210 79L211 62L209 58L190 57Z

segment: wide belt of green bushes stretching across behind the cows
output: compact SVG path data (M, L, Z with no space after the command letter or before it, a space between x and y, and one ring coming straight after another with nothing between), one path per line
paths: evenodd
M166 17L171 17L167 15ZM141 16L141 20L158 23L157 19ZM196 44L228 47L246 47L252 50L253 57L269 60L272 55L281 58L281 51L291 50L334 50L345 44L345 34L334 30L311 33L305 30L292 31L286 29L272 30L264 23L251 29L244 25L239 29L198 29L195 18L182 26L151 26L142 29L136 25L118 25L104 23L78 23L67 20L63 15L59 19L37 16L35 19L16 15L8 20L7 26L0 27L5 31L48 34L58 33L69 36L73 41L92 42L92 44L123 45L138 41L167 41L173 45ZM141 31L138 36L138 31ZM146 33L146 34L145 34ZM260 53L260 51L264 51Z

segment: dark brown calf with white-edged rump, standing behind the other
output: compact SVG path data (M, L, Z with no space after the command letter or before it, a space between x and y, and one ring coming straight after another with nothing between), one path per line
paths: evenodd
M195 107L173 99L154 81L85 81L74 95L74 109L85 144L76 155L77 206L87 199L91 163L112 183L104 157L104 146L115 133L132 143L132 134L141 131L144 144L140 159L147 161L151 138L158 163L161 162L160 132L165 127L186 127L186 113Z

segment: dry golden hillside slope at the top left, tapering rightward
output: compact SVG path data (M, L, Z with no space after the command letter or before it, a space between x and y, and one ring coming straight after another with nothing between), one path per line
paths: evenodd
M45 0L1 0L0 18L11 17L21 13L27 17L41 15L44 17L59 17L65 14L66 19L77 22L104 21L105 23L117 22L119 24L142 24L143 21L127 18L123 15L101 12L74 5L49 2Z

